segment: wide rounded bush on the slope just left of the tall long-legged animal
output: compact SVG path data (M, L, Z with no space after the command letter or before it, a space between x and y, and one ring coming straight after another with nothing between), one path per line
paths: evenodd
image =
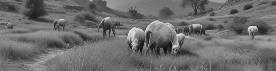
M98 22L98 20L95 18L93 14L90 14L89 12L79 12L74 16L74 21L82 22L84 23L85 20Z

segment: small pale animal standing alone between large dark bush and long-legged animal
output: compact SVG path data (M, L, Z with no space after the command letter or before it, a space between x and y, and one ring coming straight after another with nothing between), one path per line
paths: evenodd
M54 30L59 31L59 26L63 28L63 31L65 30L66 21L64 19L55 20L53 24L54 24Z

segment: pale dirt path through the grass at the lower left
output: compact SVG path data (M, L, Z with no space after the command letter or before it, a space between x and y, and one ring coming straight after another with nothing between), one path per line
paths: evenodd
M47 53L37 54L31 60L23 60L23 64L34 71L48 71L47 61L55 57L57 54L63 53L64 49L49 49Z

